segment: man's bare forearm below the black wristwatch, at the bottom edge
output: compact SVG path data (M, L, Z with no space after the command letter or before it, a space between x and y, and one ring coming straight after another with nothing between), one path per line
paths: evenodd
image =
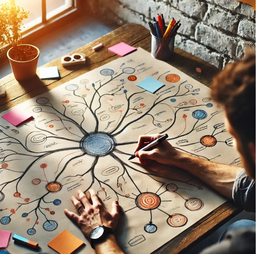
M109 234L104 242L95 245L95 251L97 254L124 254L113 234Z

